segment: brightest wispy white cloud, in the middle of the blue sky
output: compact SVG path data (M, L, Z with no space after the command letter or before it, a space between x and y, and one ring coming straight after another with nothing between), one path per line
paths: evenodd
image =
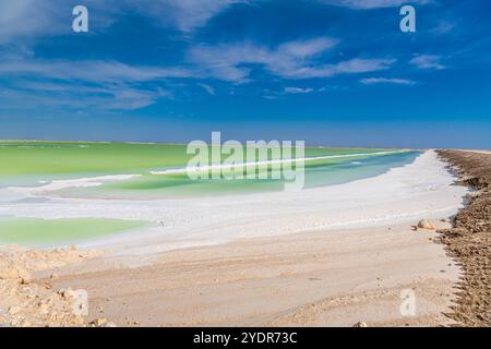
M251 43L197 46L189 51L189 61L209 76L244 83L255 67L284 79L330 77L336 74L363 73L388 69L393 59L350 59L321 64L316 58L335 47L336 39L320 37L296 40L267 48Z

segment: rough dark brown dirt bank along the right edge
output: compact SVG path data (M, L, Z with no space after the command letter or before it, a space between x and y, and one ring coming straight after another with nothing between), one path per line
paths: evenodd
M459 184L476 192L467 207L453 219L453 228L441 230L447 252L463 267L457 301L448 314L460 326L491 325L491 153L440 151L455 167Z

